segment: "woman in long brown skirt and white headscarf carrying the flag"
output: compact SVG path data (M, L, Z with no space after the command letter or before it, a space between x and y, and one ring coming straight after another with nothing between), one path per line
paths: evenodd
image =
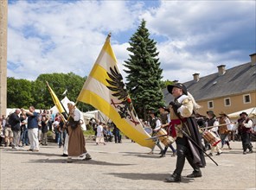
M69 117L67 118L68 147L67 162L72 162L72 156L79 156L82 160L92 159L86 151L86 141L80 125L80 111L75 107L74 102L67 103Z

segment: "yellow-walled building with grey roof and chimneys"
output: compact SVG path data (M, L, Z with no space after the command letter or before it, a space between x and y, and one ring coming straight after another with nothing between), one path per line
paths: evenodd
M195 73L193 80L183 83L202 105L201 115L214 111L218 116L221 111L230 114L256 107L256 54L249 56L250 62L227 70L225 65L217 66L217 73L202 78ZM169 104L172 96L167 90L163 94L167 94L165 102Z

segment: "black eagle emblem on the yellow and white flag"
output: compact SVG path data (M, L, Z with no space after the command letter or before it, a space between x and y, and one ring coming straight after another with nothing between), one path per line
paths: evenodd
M110 67L110 73L107 72L107 75L110 79L106 79L109 84L106 87L112 92L112 96L118 98L120 101L114 102L114 100L111 99L111 104L118 109L121 118L128 118L132 123L137 125L138 121L135 120L137 115L126 90L122 75L118 72L116 66L113 66L113 68Z

